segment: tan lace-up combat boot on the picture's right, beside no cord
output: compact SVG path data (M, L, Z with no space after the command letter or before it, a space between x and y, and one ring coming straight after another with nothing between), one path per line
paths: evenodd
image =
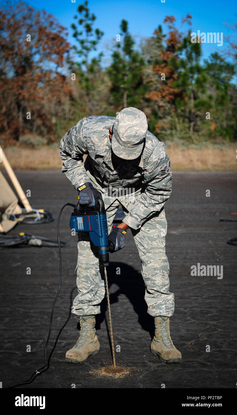
M173 345L169 332L169 317L155 317L155 335L151 342L151 353L165 363L181 363L181 353Z

